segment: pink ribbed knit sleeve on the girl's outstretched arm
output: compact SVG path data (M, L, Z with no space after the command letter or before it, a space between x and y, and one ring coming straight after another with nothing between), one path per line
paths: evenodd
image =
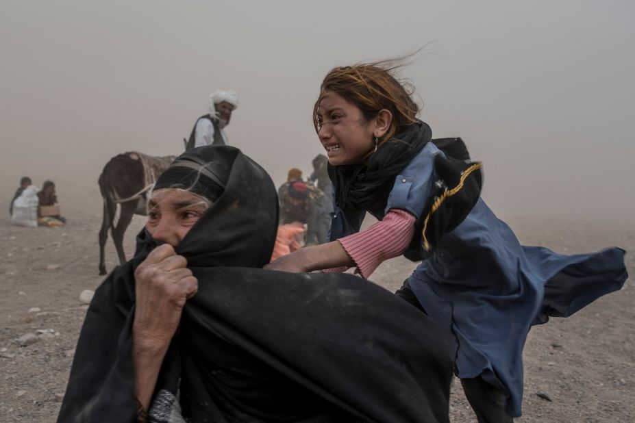
M390 209L384 220L369 229L338 241L357 266L356 273L368 279L382 261L392 259L406 251L412 234L416 217L406 210ZM325 272L343 272L346 268L327 269Z

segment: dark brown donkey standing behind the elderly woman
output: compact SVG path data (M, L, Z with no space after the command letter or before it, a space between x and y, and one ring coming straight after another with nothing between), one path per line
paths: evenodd
M147 193L174 158L175 156L153 157L129 151L112 157L103 167L99 175L99 191L103 197L103 220L99 230L99 274L106 274L104 247L108 240L108 229L112 231L112 241L119 255L119 262L124 264L123 234L134 214L146 216ZM114 225L117 204L120 205L119 219Z

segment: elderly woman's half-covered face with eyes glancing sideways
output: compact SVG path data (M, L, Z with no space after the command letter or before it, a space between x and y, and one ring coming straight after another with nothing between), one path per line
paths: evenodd
M175 247L208 208L196 194L176 188L153 192L148 202L145 229L155 238Z

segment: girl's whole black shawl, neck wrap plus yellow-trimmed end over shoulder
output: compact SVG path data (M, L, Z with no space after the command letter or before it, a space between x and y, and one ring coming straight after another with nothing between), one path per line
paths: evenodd
M343 211L368 211L382 220L395 177L428 142L433 142L445 157L437 155L434 158L438 179L432 183L432 191L415 224L410 245L403 254L413 261L432 255L440 238L467 217L480 197L481 165L471 161L463 140L433 140L432 129L417 120L379 146L366 163L328 166L336 206Z

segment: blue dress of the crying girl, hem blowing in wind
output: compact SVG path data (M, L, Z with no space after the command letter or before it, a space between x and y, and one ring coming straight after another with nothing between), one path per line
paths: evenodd
M395 178L388 209L419 218L436 179L432 142ZM337 209L331 239L359 231L363 213ZM440 238L408 283L426 313L454 339L456 375L480 376L505 392L506 411L521 415L523 346L532 324L567 317L619 290L627 279L621 248L561 255L522 246L481 199Z

